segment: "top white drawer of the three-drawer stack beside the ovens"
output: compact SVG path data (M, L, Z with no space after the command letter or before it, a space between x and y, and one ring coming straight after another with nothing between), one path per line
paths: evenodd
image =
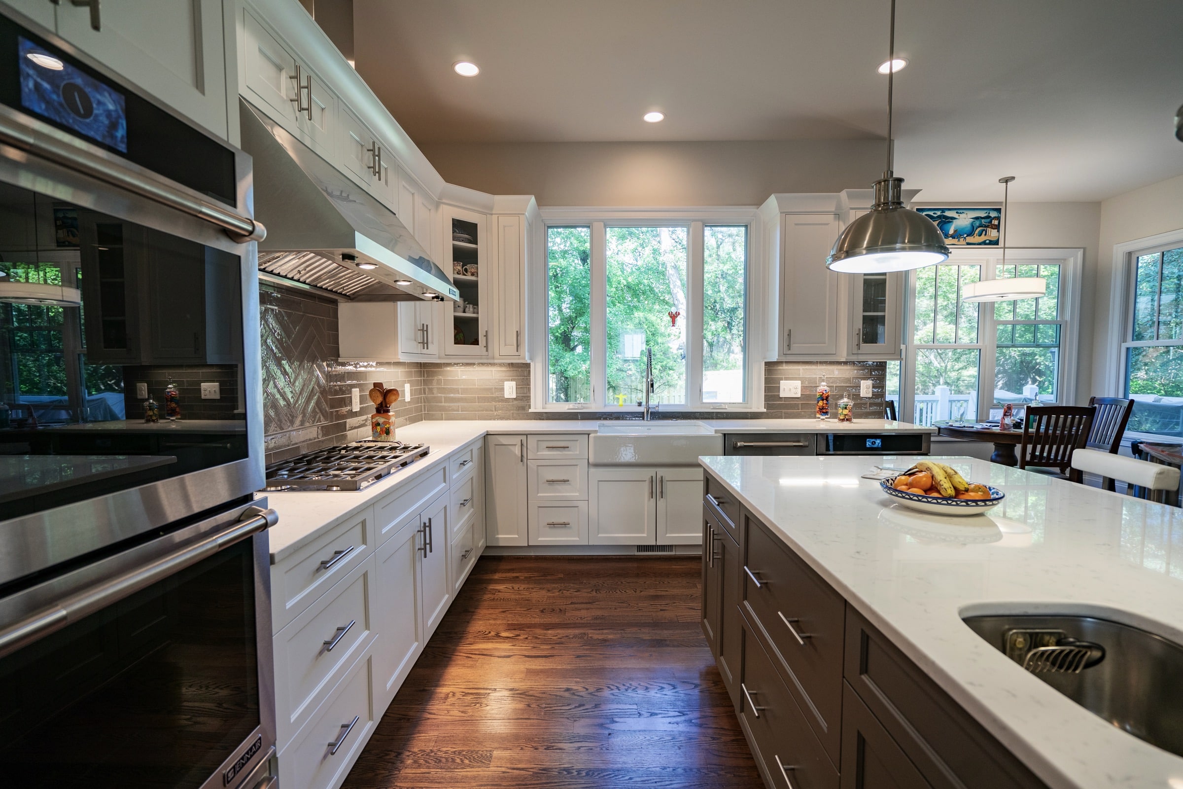
M271 628L278 633L374 552L367 507L271 568Z

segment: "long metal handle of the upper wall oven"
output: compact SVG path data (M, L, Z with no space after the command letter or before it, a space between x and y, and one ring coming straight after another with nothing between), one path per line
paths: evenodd
M97 8L97 2L95 7ZM207 202L164 181L116 164L98 154L83 150L65 140L58 140L40 131L25 128L6 117L0 117L0 142L13 148L19 148L39 159L67 167L83 175L89 175L109 186L131 192L141 198L147 198L174 211L196 216L211 225L216 225L239 244L261 241L267 235L267 229L263 224L250 216L244 216L227 207Z

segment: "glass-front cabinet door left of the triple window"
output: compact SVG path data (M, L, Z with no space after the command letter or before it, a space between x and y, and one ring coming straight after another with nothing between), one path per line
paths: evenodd
M459 300L442 305L444 356L490 356L489 312L492 291L489 280L487 218L463 208L444 206L444 248L452 253L452 282Z

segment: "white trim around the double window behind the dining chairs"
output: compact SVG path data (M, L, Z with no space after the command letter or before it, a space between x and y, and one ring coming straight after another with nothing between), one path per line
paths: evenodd
M957 247L953 248L948 263L959 265L981 265L982 279L996 279L997 266L1002 263L1002 250L1000 247ZM980 309L978 312L978 342L976 343L916 343L916 278L914 271L909 272L907 284L904 293L904 353L903 367L900 369L900 408L899 418L904 421L912 421L913 395L916 392L916 350L918 348L968 348L980 349L978 356L978 386L977 386L977 413L981 419L983 414L989 414L994 406L994 371L997 350L997 326L1000 323L1059 323L1060 330L1060 381L1058 403L1072 405L1077 397L1078 375L1078 347L1080 341L1080 287L1084 270L1085 251L1071 247L1007 247L1007 265L1053 263L1060 261L1060 311L1055 321L1002 321L994 317L993 303L987 302L990 309ZM989 274L989 276L987 276ZM990 377L987 379L987 370ZM983 381L988 386L983 387Z

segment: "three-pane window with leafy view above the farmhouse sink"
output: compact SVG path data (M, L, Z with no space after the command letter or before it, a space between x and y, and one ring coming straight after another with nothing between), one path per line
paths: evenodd
M545 380L535 408L750 408L750 221L545 227ZM537 362L536 362L537 364Z

